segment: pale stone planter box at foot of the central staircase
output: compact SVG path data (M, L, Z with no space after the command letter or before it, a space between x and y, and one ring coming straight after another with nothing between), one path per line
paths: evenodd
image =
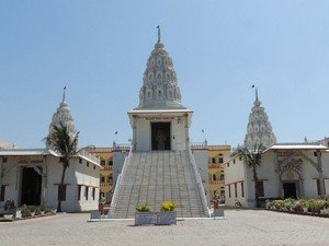
M177 224L177 212L136 212L135 225L170 225Z

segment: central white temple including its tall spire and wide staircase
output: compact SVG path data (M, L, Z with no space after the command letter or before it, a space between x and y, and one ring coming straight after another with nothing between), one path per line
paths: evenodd
M181 103L177 74L161 43L160 28L143 81L139 106L128 112L132 150L123 165L115 161L123 160L118 153L113 157L114 173L121 174L115 178L110 216L133 218L135 207L143 203L151 211L160 211L163 201L179 204L178 216L205 216L208 210L198 173L201 162L195 163L190 149L193 112Z

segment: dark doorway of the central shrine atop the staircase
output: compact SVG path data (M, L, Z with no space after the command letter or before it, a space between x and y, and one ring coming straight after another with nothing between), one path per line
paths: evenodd
M152 150L170 150L170 122L151 122Z

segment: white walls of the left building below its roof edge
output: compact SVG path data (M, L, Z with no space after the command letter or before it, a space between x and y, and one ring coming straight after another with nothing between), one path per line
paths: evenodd
M26 160L43 160L43 156L26 156ZM97 210L99 201L99 187L100 187L100 173L99 167L93 168L93 164L82 160L79 163L79 159L71 159L70 166L66 171L65 184L66 189L66 201L61 202L63 211L66 212L78 212L86 210ZM21 165L21 164L20 164ZM9 156L8 163L4 164L4 168L9 172L5 174L2 184L8 185L5 187L4 199L14 199L15 204L20 204L21 188L22 188L22 168L19 167L19 157ZM49 209L57 208L57 196L58 196L58 184L60 183L63 166L58 162L57 157L47 156L46 167L43 167L43 187L41 196L45 195L45 203ZM47 178L45 178L47 176ZM47 186L45 187L45 181ZM89 190L89 199L86 200L83 197L83 188L81 191L81 200L78 201L78 185L83 187L94 187L95 197L92 199L92 188Z

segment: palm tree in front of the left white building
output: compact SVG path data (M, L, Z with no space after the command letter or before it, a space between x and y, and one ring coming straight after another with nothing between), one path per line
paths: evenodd
M53 126L53 132L46 138L47 145L58 152L61 156L59 162L63 165L61 178L60 184L58 187L58 203L57 203L57 211L61 212L61 199L64 192L64 178L66 169L70 165L70 157L76 155L79 151L77 150L78 147L78 136L70 137L68 128L60 124L60 126Z

